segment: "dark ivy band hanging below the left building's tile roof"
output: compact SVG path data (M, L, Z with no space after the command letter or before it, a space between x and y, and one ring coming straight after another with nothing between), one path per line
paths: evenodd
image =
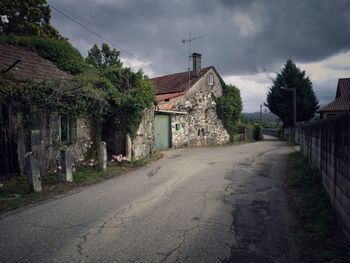
M34 83L0 78L1 102L22 113L25 123L39 113L54 113L73 117L102 116L106 96L103 91L84 85L79 79Z

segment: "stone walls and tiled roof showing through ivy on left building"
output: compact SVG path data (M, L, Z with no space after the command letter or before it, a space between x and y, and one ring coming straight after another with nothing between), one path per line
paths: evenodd
M8 72L6 74L11 75L11 81L16 85L28 80L41 83L72 78L36 52L9 44L0 44L0 72L0 78ZM139 159L154 152L153 116L154 109L145 109L136 138L131 141L122 137L124 148L119 152L111 151L110 155L126 155L128 152L130 158ZM0 178L23 174L27 152L32 152L38 160L41 172L58 169L62 147L70 150L74 164L85 162L91 158L94 134L96 130L87 119L57 114L34 116L29 131L24 131L21 114L14 112L11 105L0 97ZM120 140L106 139L112 145L114 140Z

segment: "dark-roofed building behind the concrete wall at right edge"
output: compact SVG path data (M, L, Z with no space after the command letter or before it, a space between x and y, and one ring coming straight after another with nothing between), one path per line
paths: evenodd
M350 112L350 78L338 80L335 100L320 109L321 119L335 116L342 112Z

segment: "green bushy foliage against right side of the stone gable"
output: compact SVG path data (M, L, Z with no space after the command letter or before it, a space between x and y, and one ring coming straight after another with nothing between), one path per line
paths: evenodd
M216 109L219 118L230 137L237 133L237 122L241 117L242 99L238 88L233 85L226 85L221 83L223 87L223 94L216 100Z

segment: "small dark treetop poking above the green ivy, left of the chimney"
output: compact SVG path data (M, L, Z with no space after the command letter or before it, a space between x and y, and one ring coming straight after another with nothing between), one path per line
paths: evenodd
M101 49L95 44L88 53L86 62L97 69L121 68L120 52L110 48L108 44L103 43Z

